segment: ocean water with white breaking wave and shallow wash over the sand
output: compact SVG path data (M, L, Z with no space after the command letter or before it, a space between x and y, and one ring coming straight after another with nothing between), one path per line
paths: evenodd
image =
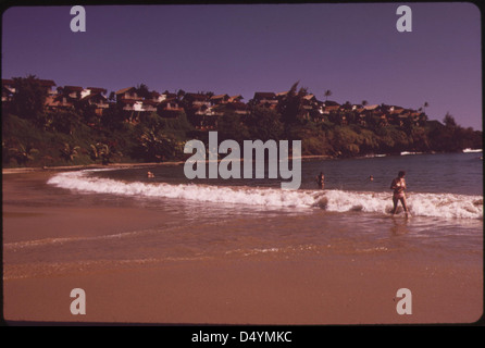
M158 219L148 227L104 235L4 244L13 266L5 276L234 258L482 262L481 157L304 160L298 190L282 189L278 179L189 181L183 165L58 173L38 188L33 204L136 208ZM147 177L148 170L154 177ZM389 186L400 170L407 172L409 219L401 210L389 214ZM323 190L315 183L320 172Z

